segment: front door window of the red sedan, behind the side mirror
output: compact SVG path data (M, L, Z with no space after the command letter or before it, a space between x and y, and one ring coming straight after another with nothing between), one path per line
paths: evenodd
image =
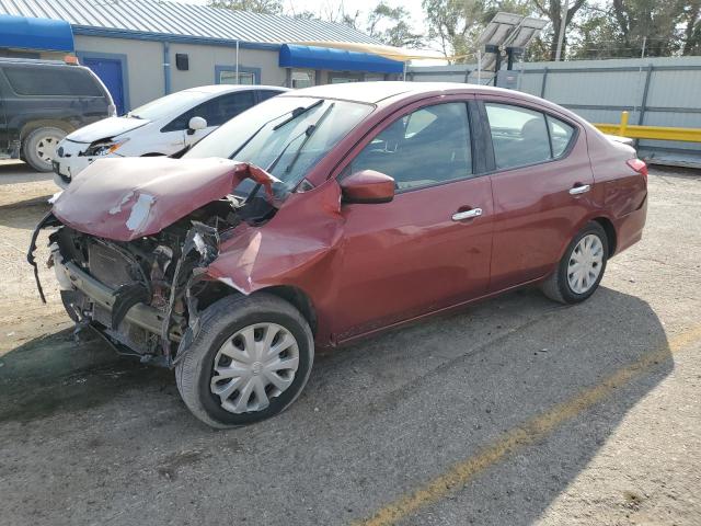
M469 178L467 103L437 104L399 118L353 160L350 172L360 170L394 178L400 191Z

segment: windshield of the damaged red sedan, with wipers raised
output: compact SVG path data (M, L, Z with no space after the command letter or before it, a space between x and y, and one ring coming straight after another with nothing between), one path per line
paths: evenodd
M217 128L184 158L223 157L268 170L285 192L372 112L372 106L309 96L276 96ZM245 182L237 193L248 193Z

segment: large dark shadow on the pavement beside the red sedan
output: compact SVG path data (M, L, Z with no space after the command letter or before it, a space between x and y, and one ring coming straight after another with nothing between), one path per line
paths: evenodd
M287 412L214 432L184 409L170 371L114 359L100 340L70 347L65 336L2 358L10 523L346 524L658 353L650 371L486 469L451 498L455 511L440 510L455 524L532 524L674 366L645 301L601 288L566 308L525 290L322 354ZM94 359L71 371L77 352ZM183 499L191 504L171 505ZM421 517L406 522L430 522Z

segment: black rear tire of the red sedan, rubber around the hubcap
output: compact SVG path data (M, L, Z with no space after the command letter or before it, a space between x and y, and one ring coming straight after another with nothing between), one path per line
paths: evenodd
M601 241L601 245L604 247L604 258L601 262L601 270L594 285L591 285L591 287L584 294L577 294L572 289L567 279L570 259L572 256L572 252L577 247L577 243L582 240L582 238L589 235L594 235L598 237L599 240ZM577 235L574 237L572 242L567 245L567 250L565 250L565 253L562 256L562 260L560 260L560 263L558 264L558 268L555 270L555 272L553 272L541 285L541 289L543 294L548 296L550 299L554 301L559 301L561 304L578 304L581 301L584 301L589 296L591 296L596 291L596 289L599 287L599 283L601 282L601 278L604 277L604 273L606 272L606 262L608 259L608 253L609 253L609 243L608 243L608 238L606 236L606 231L604 230L601 225L599 225L598 222L596 221L588 222L582 230L579 230L579 232L577 232Z

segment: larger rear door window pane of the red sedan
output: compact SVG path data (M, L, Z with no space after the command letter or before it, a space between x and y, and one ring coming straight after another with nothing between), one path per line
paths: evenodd
M545 115L525 107L485 103L499 170L552 159Z

